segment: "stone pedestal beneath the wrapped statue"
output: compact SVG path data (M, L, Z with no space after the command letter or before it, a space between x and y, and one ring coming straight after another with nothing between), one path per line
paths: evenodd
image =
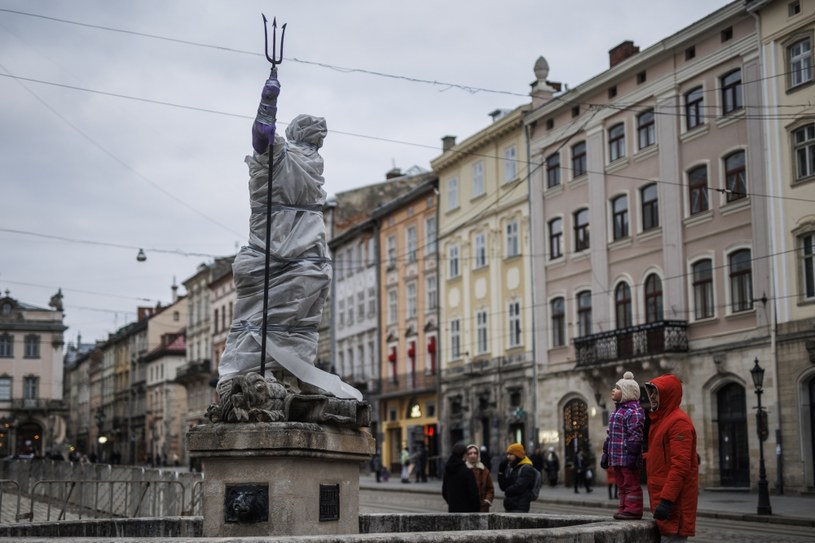
M204 465L203 536L359 532L365 430L302 422L217 423L187 434Z

